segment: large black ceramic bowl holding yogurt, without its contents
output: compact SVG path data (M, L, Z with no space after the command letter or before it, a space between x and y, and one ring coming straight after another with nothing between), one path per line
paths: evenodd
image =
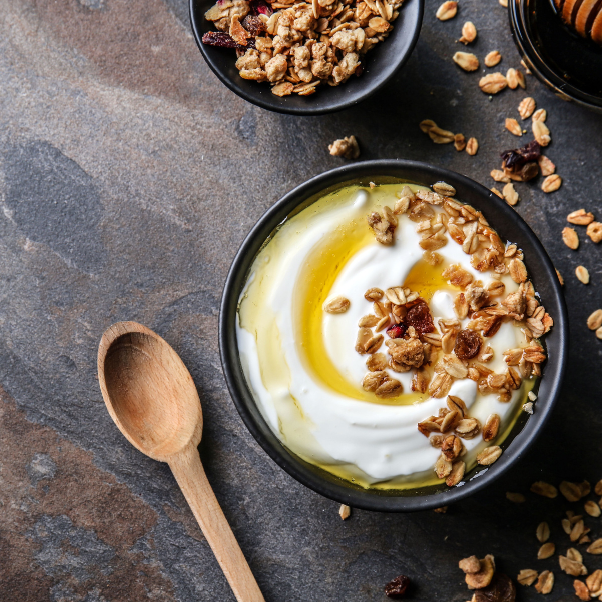
M541 295L546 311L554 319L554 326L545 338L548 360L539 381L535 414L529 416L523 413L509 438L504 441L504 453L500 459L485 473L482 472L483 467L480 467L482 474L479 477L474 477L477 470L468 473L462 486L448 488L441 485L413 491L380 491L363 489L335 477L302 461L281 444L265 423L247 388L238 358L235 320L238 299L253 259L282 220L308 206L322 196L325 190L332 191L351 180L362 185L368 185L370 181L385 184L400 180L423 185L432 185L438 181L451 184L458 191L458 199L482 211L502 239L505 237L524 250L527 270L532 276L533 284ZM368 510L421 510L445 506L482 489L526 452L541 432L559 393L568 351L568 321L560 284L544 247L518 213L498 196L466 176L426 163L403 160L364 161L332 169L297 186L268 209L253 226L238 250L226 279L220 306L219 346L226 383L241 418L259 445L288 474L314 491L350 506Z

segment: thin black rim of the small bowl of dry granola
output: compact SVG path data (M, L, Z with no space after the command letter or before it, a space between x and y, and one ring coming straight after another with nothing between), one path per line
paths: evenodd
M409 1L409 0L406 0L406 1ZM320 107L319 105L316 105L316 106L308 105L308 107L287 107L286 104L275 105L275 104L272 104L272 102L275 102L275 101L267 102L263 98L256 98L255 96L249 95L247 93L247 91L241 85L238 85L237 81L230 79L228 76L226 76L222 72L222 70L219 68L219 66L217 66L216 62L213 60L211 55L208 54L207 46L202 43L203 36L201 33L201 29L200 29L200 23L197 22L196 11L194 11L194 4L196 4L196 2L199 2L199 0L189 0L188 1L188 16L190 18L190 26L192 28L194 41L196 42L196 45L199 48L200 54L205 59L205 62L208 64L209 69L211 69L213 71L213 73L215 73L215 75L222 82L222 84L224 84L229 90L231 90L231 92L234 92L237 96L240 96L247 102L250 102L251 104L256 105L257 107L261 107L268 111L274 111L275 113L283 113L283 114L288 114L288 115L310 116L310 115L325 115L327 113L335 113L335 111L342 111L346 108L353 107L362 101L365 101L367 98L369 98L374 93L376 93L378 90L380 90L383 86L388 84L388 82L391 81L391 78L393 78L393 76L396 75L400 69L402 69L402 67L408 62L408 59L412 55L412 52L414 52L414 48L416 46L416 43L418 42L418 37L420 37L420 31L422 29L422 23L423 23L423 19L424 19L424 2L425 2L425 0L413 0L413 1L417 2L417 4L418 4L418 19L417 19L414 31L412 33L412 39L409 43L408 51L406 52L406 54L403 57L401 57L397 61L397 66L394 69L392 69L391 72L389 73L389 75L387 75L385 78L383 78L378 84L368 86L366 88L365 92L363 92L357 98L350 99L349 101L341 101L341 102L338 102L337 104L334 104L334 105L332 105L330 107L326 107L326 108ZM211 48L211 47L209 46L209 48ZM271 95L271 96L273 96L273 95ZM266 98L268 98L268 97L266 97ZM270 99L270 100L272 100L272 99Z

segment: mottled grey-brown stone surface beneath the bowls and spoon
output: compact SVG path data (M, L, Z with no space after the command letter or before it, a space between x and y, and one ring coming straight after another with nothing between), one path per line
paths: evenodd
M601 248L560 243L565 216L602 217L602 117L556 99L546 154L564 183L519 185L518 212L566 280L571 360L545 435L517 467L447 514L355 511L305 489L255 444L229 399L217 353L217 308L235 249L282 193L341 164L334 138L355 134L362 158L405 157L491 186L503 129L523 98L488 101L478 73L450 57L464 20L475 52L518 66L497 0L461 0L437 22L427 0L403 72L363 105L334 116L268 113L232 95L203 63L185 0L0 0L0 594L3 600L234 600L166 465L134 450L98 388L96 347L131 319L163 335L202 397L201 455L267 602L382 601L399 573L415 600L469 597L458 559L493 553L512 576L555 568L552 600L572 600L556 558L536 560L547 519L560 550L571 504L529 494L536 479L602 477L602 342L585 318L602 305ZM436 146L420 120L476 136L479 154ZM574 276L586 265L592 282ZM523 491L512 504L505 491ZM579 510L580 504L572 504ZM588 518L601 536L600 519ZM587 555L589 569L602 559ZM533 588L523 600L537 597Z

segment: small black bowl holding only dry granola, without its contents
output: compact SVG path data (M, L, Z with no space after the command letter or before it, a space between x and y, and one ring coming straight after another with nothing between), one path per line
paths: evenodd
M211 70L232 92L258 107L278 113L293 115L320 115L351 107L368 98L386 84L408 60L418 40L424 0L406 0L393 22L393 32L362 58L364 72L337 86L319 85L310 96L275 96L266 82L258 83L238 75L235 51L229 48L207 46L201 42L203 34L214 30L213 23L205 19L206 11L215 0L190 0L190 23L200 54Z

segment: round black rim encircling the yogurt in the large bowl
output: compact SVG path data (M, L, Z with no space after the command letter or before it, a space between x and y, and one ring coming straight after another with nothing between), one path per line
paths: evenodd
M400 172L414 173L414 175L418 174L422 177L410 178L409 176L400 176ZM546 305L550 306L553 303L555 306L553 332L558 338L554 353L548 352L548 361L544 368L544 374L539 380L541 387L544 379L546 379L546 390L549 389L550 392L545 400L540 400L535 414L529 416L529 420L526 421L520 432L510 441L510 444L494 467L485 467L488 470L483 470L481 473L476 474L465 482L463 486L455 486L436 493L411 496L392 495L391 493L374 489L350 488L349 484L342 485L334 482L337 479L325 479L324 476L316 472L315 467L311 467L309 464L306 465L300 458L287 450L279 439L273 435L267 423L265 423L265 420L259 414L252 394L246 385L246 380L244 379L238 359L233 321L237 319L236 310L241 288L246 282L248 269L256 253L267 239L265 235L266 231L268 233L272 232L275 226L281 223L283 219L286 219L297 206L331 185L341 184L354 178L371 178L388 175L406 177L409 181L429 181L430 179L434 183L444 180L456 188L458 186L464 187L482 197L483 202L492 202L497 205L497 211L501 211L502 214L506 214L510 220L514 221L513 228L518 228L520 235L523 238L526 237L529 239L529 243L532 245L530 252L535 250L539 261L544 264L545 279L551 283L551 292L548 291L547 293ZM429 176L429 179L426 179L424 176ZM259 237L261 237L261 240L258 240ZM528 262L529 258L527 257ZM255 440L276 464L309 489L340 503L366 510L405 512L446 506L479 491L505 473L533 444L536 436L541 433L542 427L547 421L560 393L560 383L565 372L566 358L568 356L568 314L560 282L557 279L555 268L547 252L523 218L507 203L497 197L497 195L482 184L468 178L468 176L427 163L421 163L420 161L399 159L360 161L349 166L328 170L297 185L259 217L241 243L232 261L223 287L219 313L219 351L226 385L240 417ZM476 478L477 476L479 478ZM345 483L342 479L340 482Z

